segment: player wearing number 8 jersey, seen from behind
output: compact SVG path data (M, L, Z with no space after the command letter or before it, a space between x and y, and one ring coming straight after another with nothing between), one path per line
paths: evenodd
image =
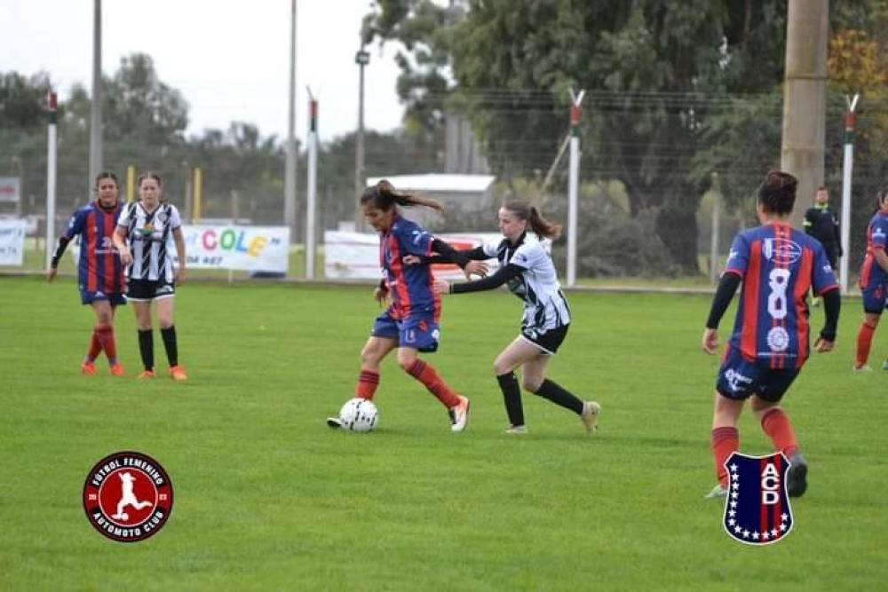
M780 402L810 354L807 294L821 296L825 321L815 351L830 351L841 308L838 282L823 245L789 226L797 178L773 170L758 188L761 225L734 237L725 272L712 300L702 348L714 354L718 323L742 282L733 334L718 369L710 446L718 485L707 495L725 497L725 461L740 447L737 421L744 403L775 449L790 462L787 493L807 488L808 466Z

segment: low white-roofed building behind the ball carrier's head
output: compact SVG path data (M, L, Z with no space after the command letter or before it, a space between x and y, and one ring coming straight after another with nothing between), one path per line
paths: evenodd
M426 175L390 175L387 177L368 178L368 185L376 185L380 180L387 179L395 189L415 191L442 202L448 211L461 209L466 212L493 210L493 186L496 177L493 175L460 175L448 173L429 173ZM428 208L404 208L405 217L416 220L420 224L428 224L437 214Z

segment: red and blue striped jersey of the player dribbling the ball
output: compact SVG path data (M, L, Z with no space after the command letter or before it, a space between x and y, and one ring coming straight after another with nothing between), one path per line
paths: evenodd
M440 317L440 296L432 289L434 276L427 264L404 264L408 255L432 254L432 234L407 218L396 216L391 227L379 237L379 264L392 296L392 313L403 319L412 311L433 312Z

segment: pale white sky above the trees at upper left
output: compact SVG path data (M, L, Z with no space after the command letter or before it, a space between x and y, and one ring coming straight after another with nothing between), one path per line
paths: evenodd
M308 93L319 101L321 141L357 127L361 18L369 0L297 0L296 133L305 138ZM287 137L289 0L102 0L102 69L147 53L163 83L189 104L188 134L253 123L264 137ZM0 72L48 72L66 99L75 83L91 90L94 0L0 0ZM394 46L368 48L364 125L400 125Z

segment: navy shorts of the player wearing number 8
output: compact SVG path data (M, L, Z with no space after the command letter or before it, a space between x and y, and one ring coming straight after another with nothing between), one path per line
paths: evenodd
M799 368L759 366L743 358L740 350L730 348L718 368L716 391L728 399L749 399L752 395L777 403L796 380Z

